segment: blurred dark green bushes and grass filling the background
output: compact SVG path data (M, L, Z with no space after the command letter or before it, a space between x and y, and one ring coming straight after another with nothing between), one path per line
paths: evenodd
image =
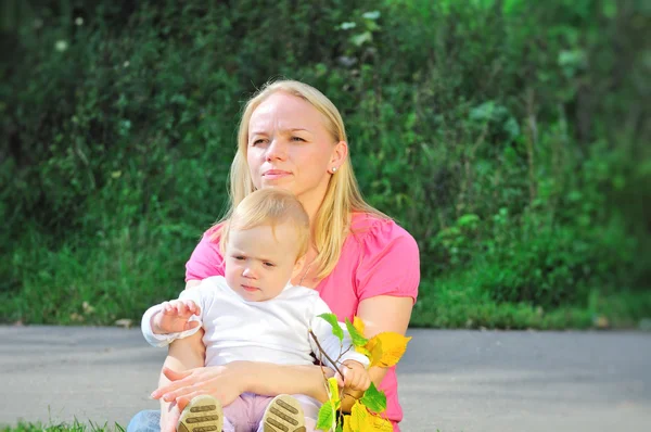
M225 208L243 102L309 82L418 240L413 326L651 317L639 0L2 2L0 321L138 320Z

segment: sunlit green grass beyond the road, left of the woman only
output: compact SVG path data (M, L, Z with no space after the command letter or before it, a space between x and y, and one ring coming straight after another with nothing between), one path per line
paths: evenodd
M150 227L125 227L85 244L71 238L58 250L43 247L37 233L25 236L4 264L14 285L0 290L0 321L112 325L177 296L199 237Z

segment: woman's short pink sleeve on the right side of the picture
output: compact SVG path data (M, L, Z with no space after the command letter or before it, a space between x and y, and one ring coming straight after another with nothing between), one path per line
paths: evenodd
M359 301L376 295L418 296L420 257L413 237L393 220L378 219L361 236L355 281Z

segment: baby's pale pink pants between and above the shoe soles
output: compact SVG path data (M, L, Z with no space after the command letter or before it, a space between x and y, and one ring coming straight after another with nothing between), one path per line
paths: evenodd
M301 403L305 412L305 428L314 432L321 404L309 396L292 395ZM224 432L264 432L263 416L273 397L253 393L242 393L227 407L224 407Z

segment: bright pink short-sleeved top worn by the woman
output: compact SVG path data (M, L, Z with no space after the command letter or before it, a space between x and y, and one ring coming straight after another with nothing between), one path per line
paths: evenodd
M219 240L207 230L186 264L186 281L224 275ZM411 297L416 302L420 281L418 244L405 229L388 219L356 213L339 263L316 290L340 321L353 320L360 301L375 295ZM395 366L380 390L386 394L386 415L399 431L403 419L398 403Z

